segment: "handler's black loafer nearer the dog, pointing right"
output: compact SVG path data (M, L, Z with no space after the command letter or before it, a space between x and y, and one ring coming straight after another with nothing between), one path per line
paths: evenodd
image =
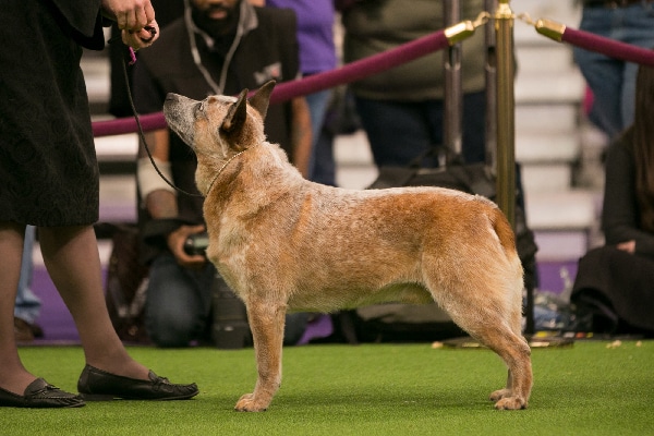
M197 386L173 385L168 378L159 377L152 371L149 380L114 375L90 365L86 365L80 380L77 390L87 401L108 401L118 398L124 400L186 400L195 397Z

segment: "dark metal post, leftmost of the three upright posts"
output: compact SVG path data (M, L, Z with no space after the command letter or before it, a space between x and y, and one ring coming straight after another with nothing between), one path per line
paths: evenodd
M443 16L446 27L452 26L461 20L459 0L443 2ZM462 43L451 45L444 56L445 69L445 111L443 142L447 147L447 156L461 155L463 147L462 123L462 84L461 84L461 51ZM449 164L449 162L447 162Z

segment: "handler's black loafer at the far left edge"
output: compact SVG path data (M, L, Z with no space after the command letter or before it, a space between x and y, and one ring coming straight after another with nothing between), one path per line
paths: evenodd
M23 396L0 388L0 407L4 408L78 408L84 404L80 396L64 392L43 378L32 382Z

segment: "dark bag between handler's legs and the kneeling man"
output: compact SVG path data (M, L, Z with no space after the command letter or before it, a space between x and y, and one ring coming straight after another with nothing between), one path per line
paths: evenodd
M135 226L114 227L105 300L118 337L126 342L149 343L145 329L148 268L141 262L141 241Z

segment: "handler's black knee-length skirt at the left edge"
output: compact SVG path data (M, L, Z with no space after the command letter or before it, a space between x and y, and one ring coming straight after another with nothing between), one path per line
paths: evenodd
M82 48L51 1L0 13L0 221L98 220L99 173Z

